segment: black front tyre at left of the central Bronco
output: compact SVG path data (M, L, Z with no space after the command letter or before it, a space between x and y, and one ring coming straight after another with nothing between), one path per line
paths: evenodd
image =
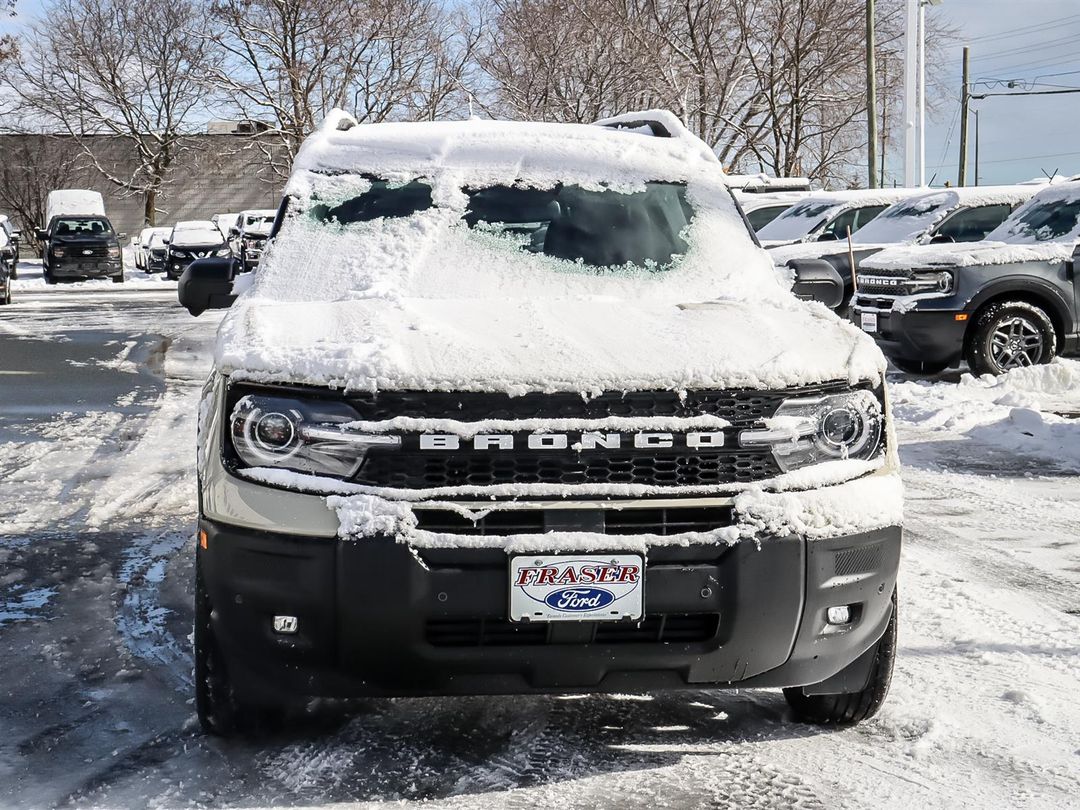
M195 713L203 730L218 737L258 734L278 728L282 712L242 701L232 681L211 624L213 606L195 564Z

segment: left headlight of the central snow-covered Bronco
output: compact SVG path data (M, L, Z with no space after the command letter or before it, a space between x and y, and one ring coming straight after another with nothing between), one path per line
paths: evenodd
M246 467L347 478L373 447L396 449L400 436L346 427L360 416L342 402L246 394L233 405L229 436Z

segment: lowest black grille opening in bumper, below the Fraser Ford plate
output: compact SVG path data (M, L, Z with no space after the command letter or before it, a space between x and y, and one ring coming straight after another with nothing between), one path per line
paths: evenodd
M719 613L662 613L640 622L584 622L584 638L569 644L698 644L716 637ZM535 647L559 644L556 622L515 624L507 619L431 619L424 627L433 647Z

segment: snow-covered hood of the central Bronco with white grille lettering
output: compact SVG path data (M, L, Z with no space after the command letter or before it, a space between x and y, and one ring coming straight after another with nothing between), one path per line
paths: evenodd
M773 389L876 380L873 341L794 299L240 301L220 370L360 390Z

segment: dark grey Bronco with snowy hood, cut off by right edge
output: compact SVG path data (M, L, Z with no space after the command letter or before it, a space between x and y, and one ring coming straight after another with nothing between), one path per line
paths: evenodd
M862 262L854 318L905 372L975 374L1080 349L1080 183L1050 186L983 242L897 247Z

